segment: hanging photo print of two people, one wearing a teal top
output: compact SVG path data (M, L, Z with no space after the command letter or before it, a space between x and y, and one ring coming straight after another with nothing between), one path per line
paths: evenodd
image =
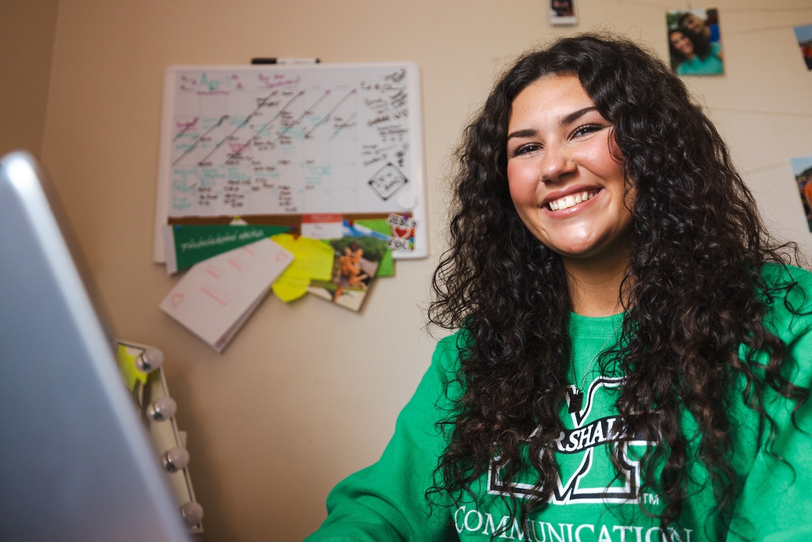
M674 72L680 76L724 73L719 10L672 10L665 17Z

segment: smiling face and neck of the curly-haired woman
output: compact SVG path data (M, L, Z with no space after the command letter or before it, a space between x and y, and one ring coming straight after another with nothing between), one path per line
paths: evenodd
M508 187L529 232L561 257L573 310L619 312L616 293L632 248L633 189L612 124L577 76L544 76L514 98ZM597 281L590 280L594 270Z

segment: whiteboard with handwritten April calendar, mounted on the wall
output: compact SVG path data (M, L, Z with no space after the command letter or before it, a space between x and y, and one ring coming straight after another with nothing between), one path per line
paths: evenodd
M153 259L166 223L391 217L428 254L415 63L166 70Z

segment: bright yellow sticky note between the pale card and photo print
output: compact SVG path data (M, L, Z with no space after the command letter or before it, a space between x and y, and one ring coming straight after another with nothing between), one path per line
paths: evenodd
M290 233L271 236L274 242L293 253L293 262L274 282L276 297L286 303L304 296L310 279L330 280L333 272L333 248L310 237Z

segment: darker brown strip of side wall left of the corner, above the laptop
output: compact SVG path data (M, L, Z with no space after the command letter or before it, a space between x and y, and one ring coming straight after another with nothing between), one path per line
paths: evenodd
M0 2L0 156L40 156L57 0Z

